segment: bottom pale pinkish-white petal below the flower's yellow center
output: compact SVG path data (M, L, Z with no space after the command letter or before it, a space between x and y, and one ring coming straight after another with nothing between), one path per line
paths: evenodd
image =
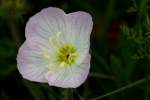
M90 69L90 55L88 55L80 65L57 69L55 73L48 72L47 79L50 86L63 88L77 88L86 79Z

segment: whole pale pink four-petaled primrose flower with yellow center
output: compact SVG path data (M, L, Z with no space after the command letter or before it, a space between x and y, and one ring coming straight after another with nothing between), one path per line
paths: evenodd
M45 8L27 22L26 41L20 47L17 66L30 81L63 88L79 87L90 69L88 13L66 14L59 8Z

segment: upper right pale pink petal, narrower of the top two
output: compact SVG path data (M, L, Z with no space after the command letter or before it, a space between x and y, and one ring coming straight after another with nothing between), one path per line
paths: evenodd
M78 11L68 14L66 19L68 42L71 41L77 48L89 49L92 17L86 12Z

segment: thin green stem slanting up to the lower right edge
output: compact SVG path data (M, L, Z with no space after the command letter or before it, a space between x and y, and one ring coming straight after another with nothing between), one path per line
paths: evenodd
M131 87L134 87L134 86L136 86L136 85L145 83L145 82L146 82L147 80L149 80L149 79L150 79L150 77L147 77L147 78L138 80L138 81L133 82L133 83L131 83L131 84L128 84L128 85L126 85L126 86L124 86L124 87L121 87L121 88L119 88L119 89L117 89L117 90L114 90L114 91L109 92L109 93L106 93L106 94L104 94L104 95L102 95L102 96L98 96L98 97L96 97L96 98L93 98L93 99L91 99L91 100L100 100L100 99L102 99L102 98L105 98L105 97L108 97L108 96L110 96L110 95L113 95L113 94L119 93L119 92L121 92L121 91L124 91L124 90L126 90L126 89L128 89L128 88L131 88Z

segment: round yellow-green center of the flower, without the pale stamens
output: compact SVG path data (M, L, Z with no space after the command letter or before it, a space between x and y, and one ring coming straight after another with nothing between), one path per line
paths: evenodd
M77 58L77 49L70 43L62 45L56 54L56 60L61 66L72 65Z

